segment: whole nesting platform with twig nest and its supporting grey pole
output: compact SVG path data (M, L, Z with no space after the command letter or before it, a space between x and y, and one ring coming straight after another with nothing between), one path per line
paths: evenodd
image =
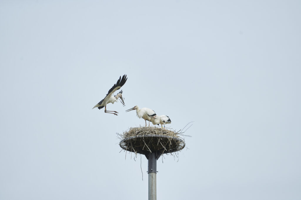
M157 200L157 160L162 154L180 151L185 147L184 139L174 131L137 127L119 135L119 146L135 154L143 154L148 160L148 200Z

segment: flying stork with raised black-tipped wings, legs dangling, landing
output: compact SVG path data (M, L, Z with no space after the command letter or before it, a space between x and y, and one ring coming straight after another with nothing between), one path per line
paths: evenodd
M108 94L106 95L106 97L104 97L104 99L101 100L98 104L96 104L93 108L98 107L98 109L102 109L104 107L104 112L117 115L116 114L116 113L118 113L117 111L107 110L107 104L108 103L115 103L116 101L118 101L118 98L120 98L121 103L124 105L124 101L123 101L123 98L122 98L122 90L120 92L118 92L116 95L113 95L113 93L116 90L119 90L126 83L127 79L128 78L126 78L126 75L123 75L122 78L120 76L118 81L116 82L116 84L114 84L113 87L108 91Z

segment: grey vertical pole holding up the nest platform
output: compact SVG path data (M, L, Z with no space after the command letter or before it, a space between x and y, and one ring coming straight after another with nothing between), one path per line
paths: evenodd
M148 157L148 200L157 200L157 156L154 152Z

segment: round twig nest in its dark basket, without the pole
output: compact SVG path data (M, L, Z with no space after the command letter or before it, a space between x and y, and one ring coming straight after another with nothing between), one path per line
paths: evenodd
M175 131L156 127L134 127L123 134L118 134L119 146L135 154L148 155L156 152L158 156L180 151L185 141Z

